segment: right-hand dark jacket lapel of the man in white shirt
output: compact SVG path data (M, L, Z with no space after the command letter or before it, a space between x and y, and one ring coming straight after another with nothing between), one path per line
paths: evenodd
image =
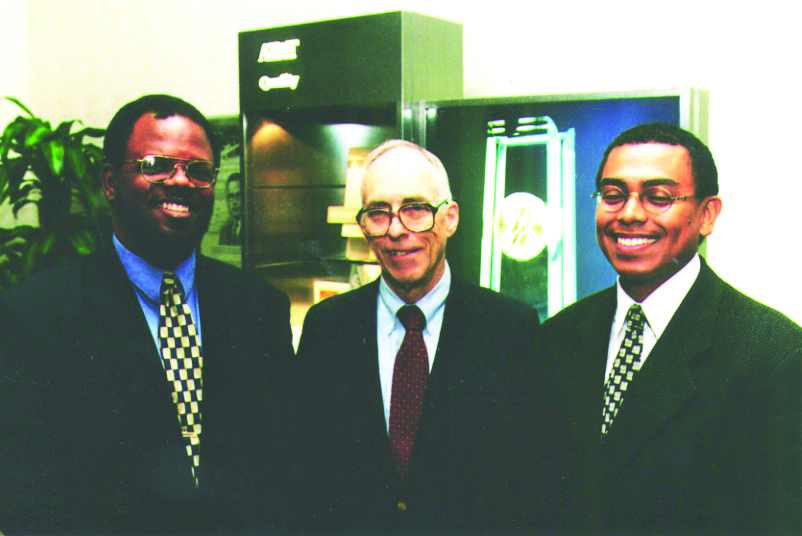
M627 393L608 437L611 471L636 456L695 395L692 367L711 344L722 288L703 262L696 282Z

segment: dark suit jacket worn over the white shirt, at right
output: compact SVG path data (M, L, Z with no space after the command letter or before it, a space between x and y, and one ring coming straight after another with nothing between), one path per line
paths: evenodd
M592 533L799 533L799 326L702 261L602 445L615 308L613 287L540 332L543 404L562 416L547 434L560 467L553 504Z

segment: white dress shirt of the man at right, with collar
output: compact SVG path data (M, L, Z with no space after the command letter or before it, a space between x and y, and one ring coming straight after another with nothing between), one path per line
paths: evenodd
M676 274L672 275L665 283L649 294L640 304L643 314L646 316L646 324L643 326L643 351L641 352L641 365L646 362L649 354L657 344L657 339L663 334L674 313L677 312L680 303L685 299L688 291L691 290L696 277L699 275L702 263L699 261L699 254L693 256L688 264L683 266ZM610 331L610 345L607 348L607 368L604 372L604 382L610 376L613 368L613 361L621 348L624 340L624 321L627 311L636 303L626 291L621 288L621 278L616 280L617 305L613 326Z

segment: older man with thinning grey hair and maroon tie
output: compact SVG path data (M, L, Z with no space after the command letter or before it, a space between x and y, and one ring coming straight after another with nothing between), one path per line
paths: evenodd
M459 207L430 152L376 148L362 205L381 277L313 307L299 347L315 490L304 518L326 531L514 528L537 315L452 274Z

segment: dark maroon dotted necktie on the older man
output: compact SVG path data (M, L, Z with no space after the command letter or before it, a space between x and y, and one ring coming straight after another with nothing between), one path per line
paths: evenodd
M390 445L395 454L398 476L403 481L426 395L429 357L422 331L426 325L426 317L421 310L415 305L405 305L398 310L398 319L407 332L393 366Z

